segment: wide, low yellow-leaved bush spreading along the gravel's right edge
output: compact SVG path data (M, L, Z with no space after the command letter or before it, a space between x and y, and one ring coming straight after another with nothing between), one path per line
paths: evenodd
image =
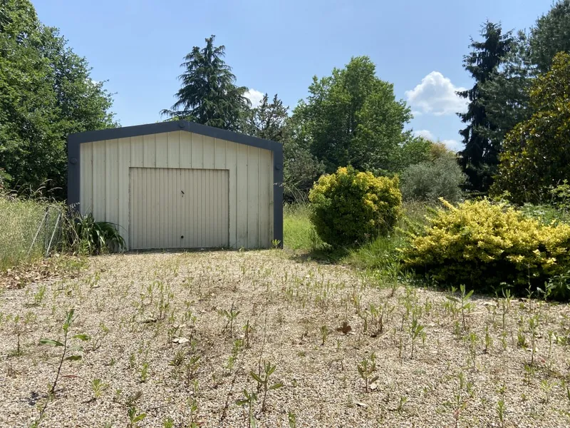
M491 291L506 283L524 294L544 289L570 269L570 225L544 225L504 203L468 201L435 211L423 233L404 248L405 267L424 271L445 285ZM552 297L569 297L565 283Z

